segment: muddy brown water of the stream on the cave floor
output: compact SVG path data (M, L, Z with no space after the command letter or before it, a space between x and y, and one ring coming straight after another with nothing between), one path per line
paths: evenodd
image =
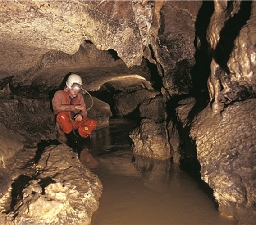
M238 224L220 215L206 190L178 166L134 160L134 126L133 120L113 118L92 134L91 153L100 164L91 171L103 185L92 225Z

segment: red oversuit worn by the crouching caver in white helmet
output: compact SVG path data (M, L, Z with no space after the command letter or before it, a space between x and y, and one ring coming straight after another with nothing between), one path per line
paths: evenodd
M75 121L72 117L77 114L75 105L83 105L86 108L82 94L78 93L76 97L71 98L69 92L64 90L57 91L52 99L53 111L57 115L57 130L61 135L69 134L73 129L77 130L79 135L87 138L91 131L94 130L98 124L97 121L88 118L87 112L80 112L83 116L81 121Z

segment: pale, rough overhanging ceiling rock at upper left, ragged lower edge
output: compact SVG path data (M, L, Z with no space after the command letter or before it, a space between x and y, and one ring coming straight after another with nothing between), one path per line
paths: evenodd
M47 49L74 54L83 40L90 40L98 49L115 49L128 67L142 61L143 45L130 1L22 0L1 1L0 6L2 45L18 46L19 40L38 57Z

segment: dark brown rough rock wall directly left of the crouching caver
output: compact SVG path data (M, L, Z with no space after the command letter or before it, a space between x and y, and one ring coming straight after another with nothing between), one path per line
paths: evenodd
M41 139L54 139L55 121L49 99L27 99L24 97L0 100L3 125L22 136L23 144L35 146ZM15 121L15 122L10 122Z

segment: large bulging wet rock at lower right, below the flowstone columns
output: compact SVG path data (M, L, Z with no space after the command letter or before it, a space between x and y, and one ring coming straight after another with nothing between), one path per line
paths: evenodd
M201 178L214 190L219 211L254 224L256 201L256 99L236 102L222 115L210 107L193 121Z

